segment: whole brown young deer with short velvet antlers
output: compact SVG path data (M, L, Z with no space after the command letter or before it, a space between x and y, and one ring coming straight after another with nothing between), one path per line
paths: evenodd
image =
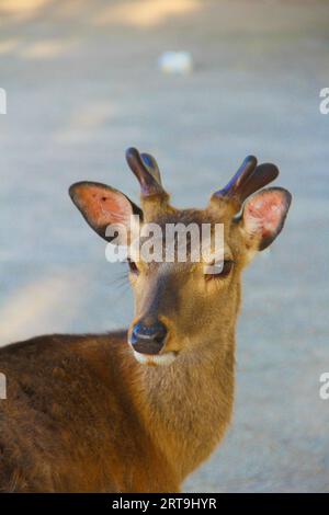
M127 161L141 209L110 186L77 183L70 195L88 224L106 240L109 225L131 230L133 214L161 227L224 224L222 272L131 256L136 307L128 331L2 348L1 491L177 492L230 421L241 271L281 231L291 194L256 193L279 171L248 157L205 209L178 210L151 156L129 149Z

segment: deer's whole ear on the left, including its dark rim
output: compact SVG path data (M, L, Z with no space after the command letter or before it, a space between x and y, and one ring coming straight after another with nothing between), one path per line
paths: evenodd
M69 195L90 227L106 241L114 238L106 236L109 226L124 225L129 230L133 215L143 218L143 211L136 204L105 184L78 182L71 185Z

